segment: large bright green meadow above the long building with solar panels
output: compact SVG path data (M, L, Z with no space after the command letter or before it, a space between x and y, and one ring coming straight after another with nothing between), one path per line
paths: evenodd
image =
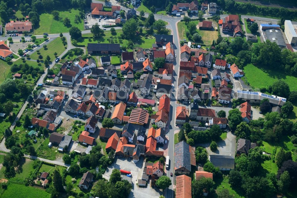
M291 91L297 90L297 78L287 76L279 70L262 70L250 63L244 67L243 71L244 76L247 77L247 81L253 88L267 87L275 81L282 79L289 85Z

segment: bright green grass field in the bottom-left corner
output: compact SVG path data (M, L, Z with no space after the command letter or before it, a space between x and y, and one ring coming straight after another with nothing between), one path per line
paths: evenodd
M50 194L42 188L34 188L31 186L24 186L20 184L10 183L1 197L15 198L15 197L42 197L50 198Z

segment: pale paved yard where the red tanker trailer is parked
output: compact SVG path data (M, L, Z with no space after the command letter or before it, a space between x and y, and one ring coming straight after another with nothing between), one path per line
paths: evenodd
M131 171L132 174L132 191L129 194L129 197L160 197L159 189L157 191L154 188L151 188L148 184L147 187L138 187L137 181L141 178L143 172L143 158L135 163L131 158L115 158L113 164L108 166L106 172L103 174L103 177L109 180L110 174L113 169L124 169Z

